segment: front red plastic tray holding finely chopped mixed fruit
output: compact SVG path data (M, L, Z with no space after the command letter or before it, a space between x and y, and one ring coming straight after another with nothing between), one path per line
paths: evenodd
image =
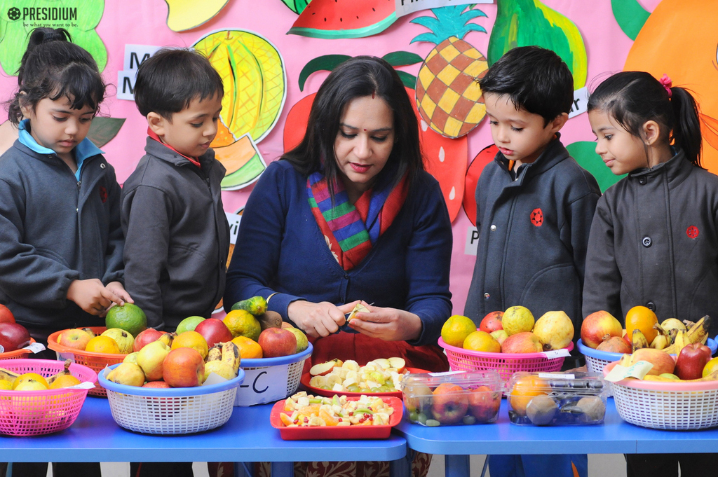
M386 393L383 393L386 394ZM359 397L348 397L350 401L359 400ZM314 426L312 428L288 428L281 422L279 415L284 412L286 400L277 401L271 408L269 422L284 440L346 440L346 439L386 439L391 434L391 428L401 422L404 404L393 396L382 397L381 400L393 407L388 425L341 425L341 426ZM290 414L284 412L284 414Z

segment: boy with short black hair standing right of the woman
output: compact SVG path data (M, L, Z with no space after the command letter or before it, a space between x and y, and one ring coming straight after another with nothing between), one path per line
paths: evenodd
M565 311L577 334L601 192L560 141L574 97L571 72L549 49L517 47L479 85L498 154L476 186L479 242L464 313L479 324L486 314L516 305L535 318ZM573 476L572 461L585 476L586 455L493 455L490 473Z

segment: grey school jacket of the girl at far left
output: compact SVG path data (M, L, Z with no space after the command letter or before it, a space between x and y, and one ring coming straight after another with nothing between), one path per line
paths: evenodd
M19 141L0 157L0 303L48 332L101 326L67 300L73 280L122 281L120 186L101 154L80 181L56 154Z

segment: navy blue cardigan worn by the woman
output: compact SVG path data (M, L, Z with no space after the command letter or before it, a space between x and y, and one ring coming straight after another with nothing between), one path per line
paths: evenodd
M280 160L264 171L242 215L227 273L224 306L277 292L269 309L285 321L299 299L340 305L362 299L415 313L423 323L412 345L436 344L452 311L451 221L439 183L426 172L369 255L342 270L307 200L307 178Z

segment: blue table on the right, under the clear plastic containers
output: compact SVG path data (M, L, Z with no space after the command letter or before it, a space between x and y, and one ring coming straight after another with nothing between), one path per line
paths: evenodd
M635 454L716 452L718 429L666 431L641 428L620 418L613 399L603 425L534 427L511 424L506 400L496 424L426 428L406 417L395 428L410 449L445 455L447 477L469 477L476 454Z

